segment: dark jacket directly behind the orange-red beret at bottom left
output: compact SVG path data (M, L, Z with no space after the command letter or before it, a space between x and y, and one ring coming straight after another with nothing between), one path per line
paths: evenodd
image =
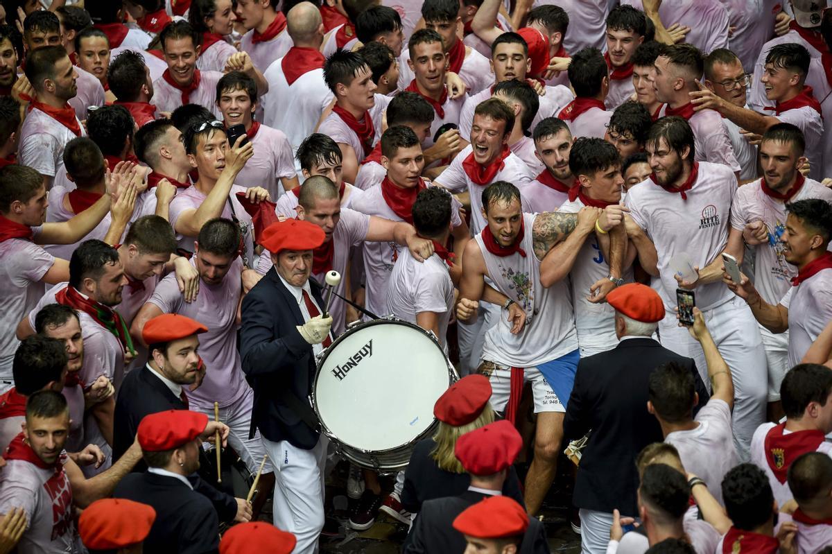
M214 507L176 477L131 473L118 483L113 497L142 502L156 510L156 521L145 539L145 552L219 552L219 521Z

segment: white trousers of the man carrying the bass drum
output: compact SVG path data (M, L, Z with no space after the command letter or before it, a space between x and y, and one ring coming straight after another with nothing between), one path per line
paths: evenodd
M318 551L318 537L324 528L324 463L329 441L321 435L311 450L296 448L289 441L262 441L277 470L275 527L297 538L292 554L313 554Z

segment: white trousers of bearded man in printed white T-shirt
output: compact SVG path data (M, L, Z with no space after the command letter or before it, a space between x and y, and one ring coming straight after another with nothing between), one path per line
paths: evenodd
M734 379L734 444L740 460L747 462L751 436L765 421L768 370L760 328L745 301L736 297L706 310L703 316ZM662 346L696 361L696 368L710 391L705 353L687 328L678 326L675 313L668 312L661 320L659 333Z

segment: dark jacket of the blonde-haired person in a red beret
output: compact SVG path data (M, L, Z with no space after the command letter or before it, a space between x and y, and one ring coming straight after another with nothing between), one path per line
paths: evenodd
M425 438L416 443L414 452L410 455L410 462L404 471L404 489L402 490L402 506L408 512L420 512L422 503L433 498L456 497L468 490L471 475L468 473L452 473L439 469L430 453L436 443L433 438ZM520 502L525 507L518 472L512 466L508 471L508 478L503 483L503 494Z

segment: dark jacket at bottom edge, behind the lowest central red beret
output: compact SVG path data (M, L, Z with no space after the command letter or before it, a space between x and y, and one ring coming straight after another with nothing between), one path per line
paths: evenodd
M461 553L465 551L465 537L453 528L453 520L467 507L480 502L488 495L465 491L458 497L428 500L418 512L414 527L404 542L404 554ZM520 554L548 554L549 544L543 524L529 518L526 534L520 544Z

